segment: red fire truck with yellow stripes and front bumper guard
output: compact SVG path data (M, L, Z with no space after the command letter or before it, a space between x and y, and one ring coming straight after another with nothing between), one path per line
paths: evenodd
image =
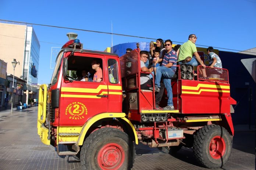
M78 81L95 59L102 81ZM72 38L57 55L49 86L40 86L38 135L59 155L80 159L83 169L131 169L139 142L169 154L190 147L203 166L221 167L234 136L228 70L198 66L195 79L193 69L182 64L171 80L175 110L156 110L154 92L140 87L141 74L149 73L141 72L137 50L119 58L84 50ZM160 106L166 103L163 96Z

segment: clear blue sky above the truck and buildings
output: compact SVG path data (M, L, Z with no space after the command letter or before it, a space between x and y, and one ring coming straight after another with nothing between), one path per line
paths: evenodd
M118 34L185 42L193 33L198 36L197 47L256 47L256 0L0 0L0 19L100 32L111 32L112 21L113 33ZM37 25L33 28L41 46L39 84L50 82L51 47L67 42L66 33L78 33L85 49L104 51L111 47L109 34ZM113 36L113 45L149 41Z

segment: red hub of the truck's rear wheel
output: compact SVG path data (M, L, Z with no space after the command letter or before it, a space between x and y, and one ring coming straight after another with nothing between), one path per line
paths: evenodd
M222 137L214 136L209 144L209 152L213 159L220 159L226 151L226 144Z

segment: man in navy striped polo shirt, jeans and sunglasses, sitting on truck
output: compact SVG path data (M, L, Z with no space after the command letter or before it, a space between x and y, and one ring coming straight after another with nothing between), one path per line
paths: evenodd
M155 91L160 89L161 78L164 81L164 86L167 90L167 106L164 107L164 110L174 110L173 106L173 89L171 88L171 78L173 78L176 67L177 67L177 53L172 48L173 42L171 40L166 40L164 46L166 48L166 54L162 60L162 66L157 67L156 69L156 78L155 78Z

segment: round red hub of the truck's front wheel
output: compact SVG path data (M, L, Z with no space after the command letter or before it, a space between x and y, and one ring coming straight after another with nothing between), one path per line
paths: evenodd
M124 163L124 149L116 143L104 145L97 156L99 167L103 170L117 170Z

